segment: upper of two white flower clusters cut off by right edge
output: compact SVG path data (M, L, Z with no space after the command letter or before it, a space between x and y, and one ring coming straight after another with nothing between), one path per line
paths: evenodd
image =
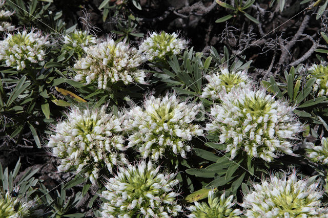
M308 73L310 74L309 76L316 78L313 90L318 92L318 96L328 96L328 66L313 64L308 69Z

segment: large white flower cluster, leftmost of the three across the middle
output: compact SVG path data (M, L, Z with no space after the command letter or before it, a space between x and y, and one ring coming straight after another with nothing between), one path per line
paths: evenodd
M128 163L120 152L127 149L120 135L124 116L107 114L106 107L83 111L73 107L67 119L54 126L48 147L52 147L53 156L61 159L58 171L84 169L85 176L95 183L103 166L112 172L114 165Z

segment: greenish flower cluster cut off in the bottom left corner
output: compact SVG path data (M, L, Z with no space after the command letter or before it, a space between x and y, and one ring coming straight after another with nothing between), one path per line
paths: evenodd
M8 191L0 193L0 217L30 217L33 206L33 201L26 197L11 197Z

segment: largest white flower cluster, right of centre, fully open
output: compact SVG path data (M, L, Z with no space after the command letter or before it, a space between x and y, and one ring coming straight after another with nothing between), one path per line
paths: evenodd
M293 155L290 139L303 130L293 107L265 90L236 89L219 97L221 103L211 108L212 122L206 129L227 145L231 159L240 149L268 162L278 157L277 152Z

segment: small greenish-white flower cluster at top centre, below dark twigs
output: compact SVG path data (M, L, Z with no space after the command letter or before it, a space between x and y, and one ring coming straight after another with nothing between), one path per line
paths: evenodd
M176 33L153 32L139 45L139 51L146 54L147 60L166 60L173 54L179 54L187 47L185 39L179 39Z

